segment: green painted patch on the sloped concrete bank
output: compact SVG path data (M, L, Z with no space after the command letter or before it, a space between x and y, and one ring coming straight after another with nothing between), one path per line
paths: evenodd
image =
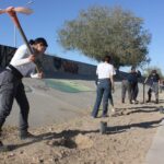
M68 93L79 93L79 92L91 92L91 87L85 86L84 84L78 83L77 81L71 80L55 80L46 79L46 86L56 89L61 92Z

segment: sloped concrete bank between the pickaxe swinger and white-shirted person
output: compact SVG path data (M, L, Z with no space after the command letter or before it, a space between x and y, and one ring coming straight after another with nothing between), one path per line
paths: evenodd
M94 80L23 79L30 102L30 127L60 124L89 115L95 101ZM19 125L19 106L14 101L4 126Z

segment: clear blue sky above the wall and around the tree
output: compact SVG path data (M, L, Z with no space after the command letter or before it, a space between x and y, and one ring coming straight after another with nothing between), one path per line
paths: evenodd
M0 9L9 5L25 5L31 0L0 0ZM120 5L122 9L132 11L137 16L144 20L144 28L152 34L152 42L149 45L149 56L152 61L150 66L157 66L164 73L163 65L163 39L164 39L164 1L163 0L33 0L30 8L34 10L31 15L17 14L22 27L28 39L45 37L48 42L47 52L62 58L77 61L94 63L95 61L79 52L66 51L57 43L57 31L65 21L75 19L80 10L86 10L94 4ZM0 15L0 44L14 46L14 27L7 14ZM23 44L16 32L16 46Z

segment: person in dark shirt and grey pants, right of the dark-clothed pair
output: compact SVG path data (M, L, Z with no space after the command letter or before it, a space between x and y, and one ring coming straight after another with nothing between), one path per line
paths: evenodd
M159 84L160 84L160 75L156 70L152 70L149 77L145 79L144 83L149 82L150 87L148 90L148 101L151 102L152 92L155 94L155 104L159 104Z

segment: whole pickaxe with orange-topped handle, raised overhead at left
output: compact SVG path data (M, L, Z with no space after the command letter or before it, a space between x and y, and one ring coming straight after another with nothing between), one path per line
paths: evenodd
M23 40L24 40L24 43L25 43L25 45L28 49L28 51L31 52L31 55L33 55L34 54L33 49L31 48L31 46L28 44L28 40L27 40L27 38L26 38L26 36L23 32L23 28L22 28L21 23L17 19L17 15L16 15L16 12L20 12L20 13L23 13L23 14L31 14L33 11L31 9L23 8L23 7L17 7L17 8L9 7L4 10L2 10L2 9L0 10L0 14L8 13L10 15L10 17L12 19L14 25L17 27L17 30L19 30L19 32L20 32L20 34L21 34L21 36L22 36L22 38L23 38ZM37 70L37 72L39 72L39 69L38 69L37 66L36 66L36 70Z

